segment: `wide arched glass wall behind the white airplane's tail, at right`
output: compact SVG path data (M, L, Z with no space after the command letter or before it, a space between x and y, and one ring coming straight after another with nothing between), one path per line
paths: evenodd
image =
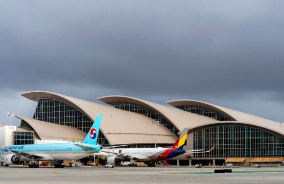
M215 149L195 153L195 158L284 157L284 139L257 128L246 126L216 126L193 132L193 148Z

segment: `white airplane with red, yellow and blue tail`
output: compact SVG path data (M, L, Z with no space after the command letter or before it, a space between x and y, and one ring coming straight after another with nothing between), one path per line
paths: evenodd
M135 166L135 162L144 162L148 166L156 166L157 161L164 161L177 157L182 154L207 153L209 150L184 150L184 144L187 139L188 129L184 129L172 148L121 148L121 149L102 149L101 152L107 153L104 157L108 163L119 164L121 161L130 161L129 166Z

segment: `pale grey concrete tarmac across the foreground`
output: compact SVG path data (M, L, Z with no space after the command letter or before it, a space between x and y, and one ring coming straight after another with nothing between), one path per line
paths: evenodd
M283 184L284 167L240 167L214 174L216 168L185 167L40 167L0 166L0 184ZM219 168L217 168L219 169Z

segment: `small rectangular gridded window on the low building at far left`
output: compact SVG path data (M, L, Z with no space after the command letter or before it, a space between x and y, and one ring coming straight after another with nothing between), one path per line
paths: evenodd
M13 131L14 145L33 144L34 132L33 131Z

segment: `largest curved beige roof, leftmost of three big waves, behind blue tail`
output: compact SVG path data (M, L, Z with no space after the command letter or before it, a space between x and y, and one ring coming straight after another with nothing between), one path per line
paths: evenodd
M50 98L74 106L95 121L98 114L102 114L100 131L111 145L119 144L152 144L155 140L155 125L152 119L144 115L120 110L106 105L56 94L47 91L31 91L22 96L35 100ZM175 135L163 125L157 125L157 144L174 143Z

